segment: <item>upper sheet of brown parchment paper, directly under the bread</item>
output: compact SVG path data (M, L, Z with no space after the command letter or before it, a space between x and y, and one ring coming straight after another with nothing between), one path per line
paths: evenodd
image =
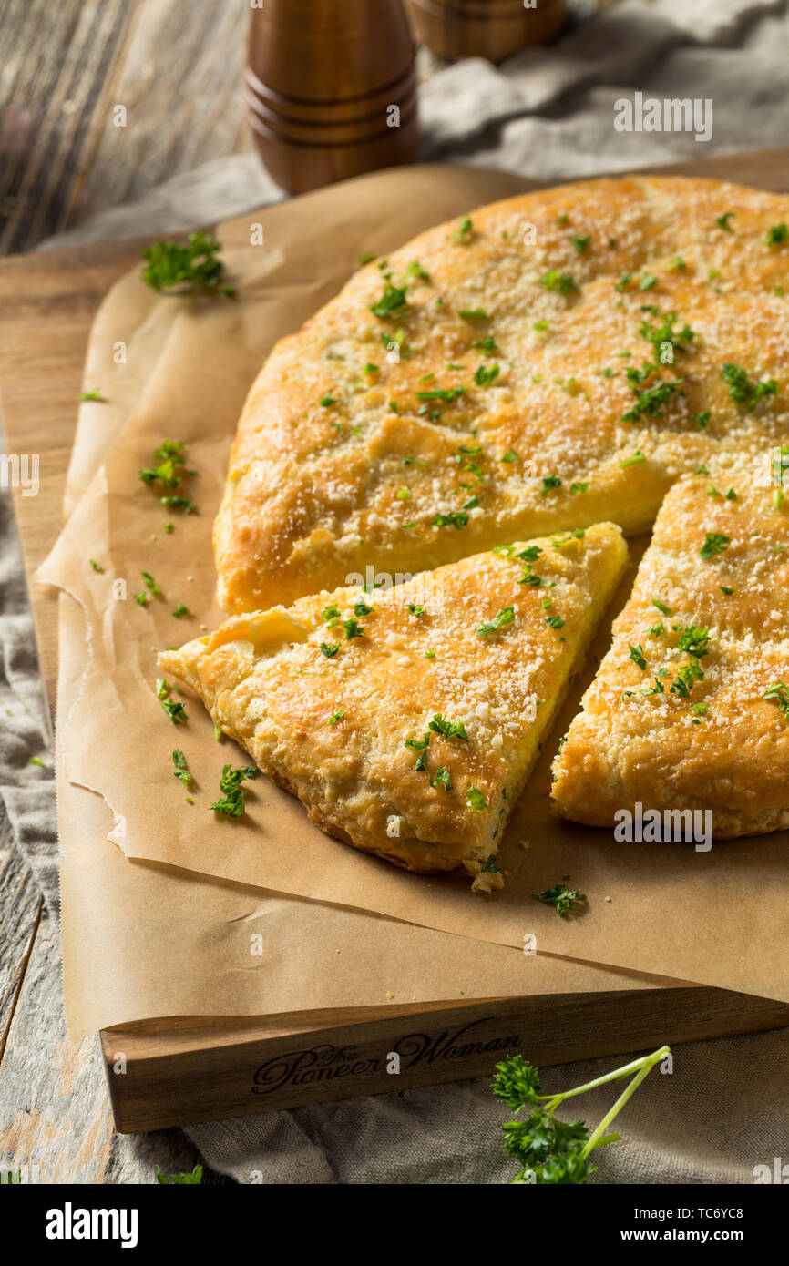
M420 879L356 853L324 836L298 801L265 779L249 785L246 819L215 822L206 805L219 770L241 753L214 743L195 700L187 704L187 727L171 729L153 696L156 651L222 618L211 604L210 523L243 395L271 343L333 294L362 252L390 249L514 184L500 175L415 168L280 205L257 216L266 227L263 247L225 251L237 301L179 301L138 408L42 570L44 580L77 598L89 629L89 667L61 734L63 777L110 806L110 838L130 858L500 946L522 947L524 936L536 933L541 952L789 999L789 914L779 896L784 836L697 853L683 844L617 844L608 832L550 815L550 758L585 680L545 744L503 846L507 889L489 901L471 896L464 879ZM247 222L222 230L225 243L248 233ZM170 515L171 537L162 532L157 499L137 479L163 438L185 439L200 471L200 514ZM103 575L90 570L90 557L105 566ZM166 595L144 611L130 601L142 570ZM110 596L114 579L127 580L125 603ZM180 601L195 619L171 617ZM604 627L598 655L607 643ZM198 779L194 806L184 804L172 779L176 743ZM528 849L519 847L523 839ZM590 898L589 912L574 920L560 920L531 899L566 874ZM765 893L776 900L765 900Z

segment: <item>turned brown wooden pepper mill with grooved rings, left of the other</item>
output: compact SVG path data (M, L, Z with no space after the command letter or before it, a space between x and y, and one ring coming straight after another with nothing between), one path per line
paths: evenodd
M270 175L301 194L417 151L414 43L401 0L252 8L248 118Z

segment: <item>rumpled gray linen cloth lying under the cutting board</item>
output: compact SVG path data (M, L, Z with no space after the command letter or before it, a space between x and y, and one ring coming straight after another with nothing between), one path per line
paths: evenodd
M433 73L420 90L420 157L561 180L779 146L788 60L785 0L626 0L548 49L526 51L498 68L469 60ZM712 138L614 130L614 101L634 91L712 99ZM233 156L44 246L176 232L281 196L255 156ZM29 763L51 734L6 492L0 644L0 839L13 832L53 908L51 774ZM789 1161L788 1055L789 1029L679 1047L674 1075L653 1071L627 1104L617 1120L624 1139L596 1155L593 1181L752 1182L755 1166ZM624 1060L555 1067L543 1082L569 1087L617 1062ZM610 1103L612 1091L602 1089L578 1112L595 1123ZM215 1170L239 1182L489 1184L514 1172L499 1143L507 1115L485 1079L195 1125L187 1134Z

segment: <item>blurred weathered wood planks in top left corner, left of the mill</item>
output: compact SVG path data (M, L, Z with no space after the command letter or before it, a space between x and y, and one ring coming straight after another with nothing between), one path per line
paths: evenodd
M4 0L0 254L248 148L248 11L247 0Z

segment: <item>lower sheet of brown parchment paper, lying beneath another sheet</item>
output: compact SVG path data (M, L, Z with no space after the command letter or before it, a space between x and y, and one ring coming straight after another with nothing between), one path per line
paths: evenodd
M267 213L266 213L267 214ZM223 233L223 237L225 234ZM85 386L106 404L82 406L65 513L68 515L125 427L146 379L166 354L179 305L132 273L98 313ZM128 348L117 358L118 342ZM85 617L60 603L58 717L85 672ZM65 728L65 725L63 725ZM60 747L58 747L60 757ZM681 986L436 933L194 872L129 862L108 842L113 814L68 782L58 758L66 1015L72 1036L170 1015L266 1015L271 1023L357 1019L414 1003L490 995L575 994ZM260 936L262 953L249 953ZM375 952L370 947L375 946Z

